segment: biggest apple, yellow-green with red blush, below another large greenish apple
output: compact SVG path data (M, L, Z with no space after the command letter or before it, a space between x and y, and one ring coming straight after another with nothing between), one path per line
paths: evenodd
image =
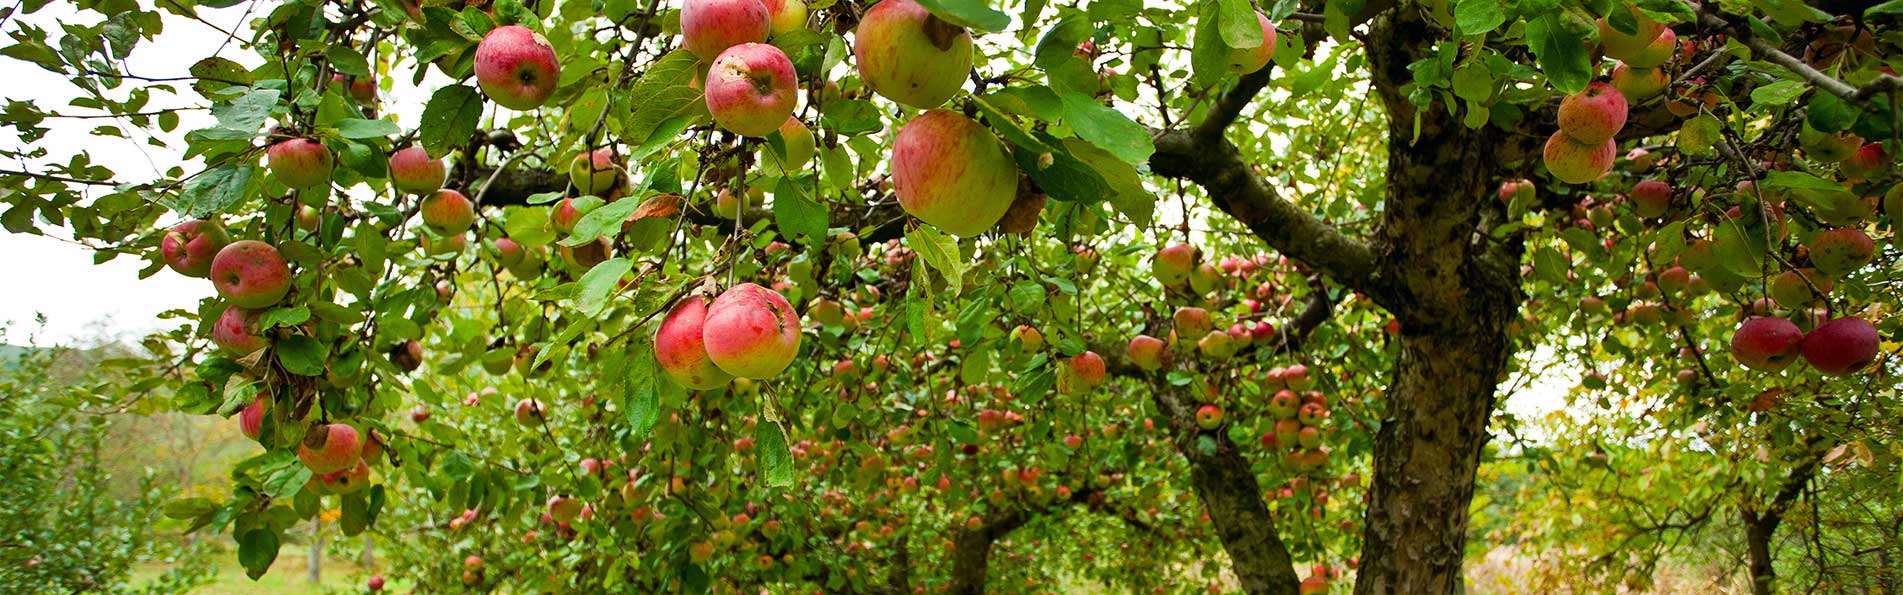
M912 0L883 0L879 8ZM921 8L923 11L923 8ZM893 141L898 205L953 236L978 236L1018 198L1018 165L984 125L952 110L927 110Z

